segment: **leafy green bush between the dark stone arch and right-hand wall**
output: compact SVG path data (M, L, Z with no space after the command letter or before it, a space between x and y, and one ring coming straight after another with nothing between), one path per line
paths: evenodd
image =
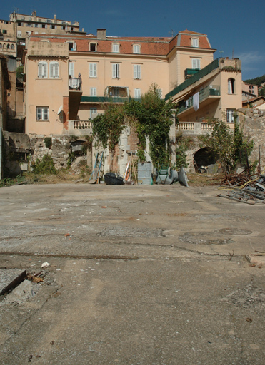
M237 163L246 163L254 143L244 135L243 126L239 128L236 116L234 133L224 120L213 118L209 124L213 125L211 135L200 135L199 140L213 155L218 156L219 163L226 173L233 172Z

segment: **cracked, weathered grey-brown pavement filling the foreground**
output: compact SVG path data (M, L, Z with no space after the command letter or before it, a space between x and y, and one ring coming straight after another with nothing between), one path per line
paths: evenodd
M264 205L216 187L0 190L1 364L264 364ZM41 264L50 266L41 269Z

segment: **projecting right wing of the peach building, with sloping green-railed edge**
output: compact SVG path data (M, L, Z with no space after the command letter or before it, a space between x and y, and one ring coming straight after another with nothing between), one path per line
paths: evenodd
M190 85L176 92L173 100L179 103L178 118L181 125L194 128L194 123L204 123L211 118L226 120L234 128L234 112L241 108L241 61L220 58L214 66L201 70L201 78L190 78ZM196 81L196 78L199 78ZM176 89L176 91L178 91ZM198 110L194 108L194 96L199 93ZM191 125L192 123L192 125ZM196 126L195 126L196 127Z

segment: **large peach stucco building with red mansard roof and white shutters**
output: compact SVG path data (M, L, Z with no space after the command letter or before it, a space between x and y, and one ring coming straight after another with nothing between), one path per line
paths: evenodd
M196 46L192 46L194 37L199 39ZM134 44L139 45L137 53ZM29 36L24 58L26 133L86 133L86 122L103 113L103 104L110 98L115 103L140 98L152 83L165 98L174 86L191 80L198 68L211 66L214 51L205 34L187 30L174 38L156 39L113 40L104 29L88 37ZM46 65L44 76L39 76L40 63ZM58 66L56 78L51 76L54 63ZM241 108L241 62L221 58L218 67L176 93L174 101L185 103L197 92L203 93L199 110L186 108L179 120L221 119L226 118L227 110ZM39 118L38 108L45 108L45 120Z

